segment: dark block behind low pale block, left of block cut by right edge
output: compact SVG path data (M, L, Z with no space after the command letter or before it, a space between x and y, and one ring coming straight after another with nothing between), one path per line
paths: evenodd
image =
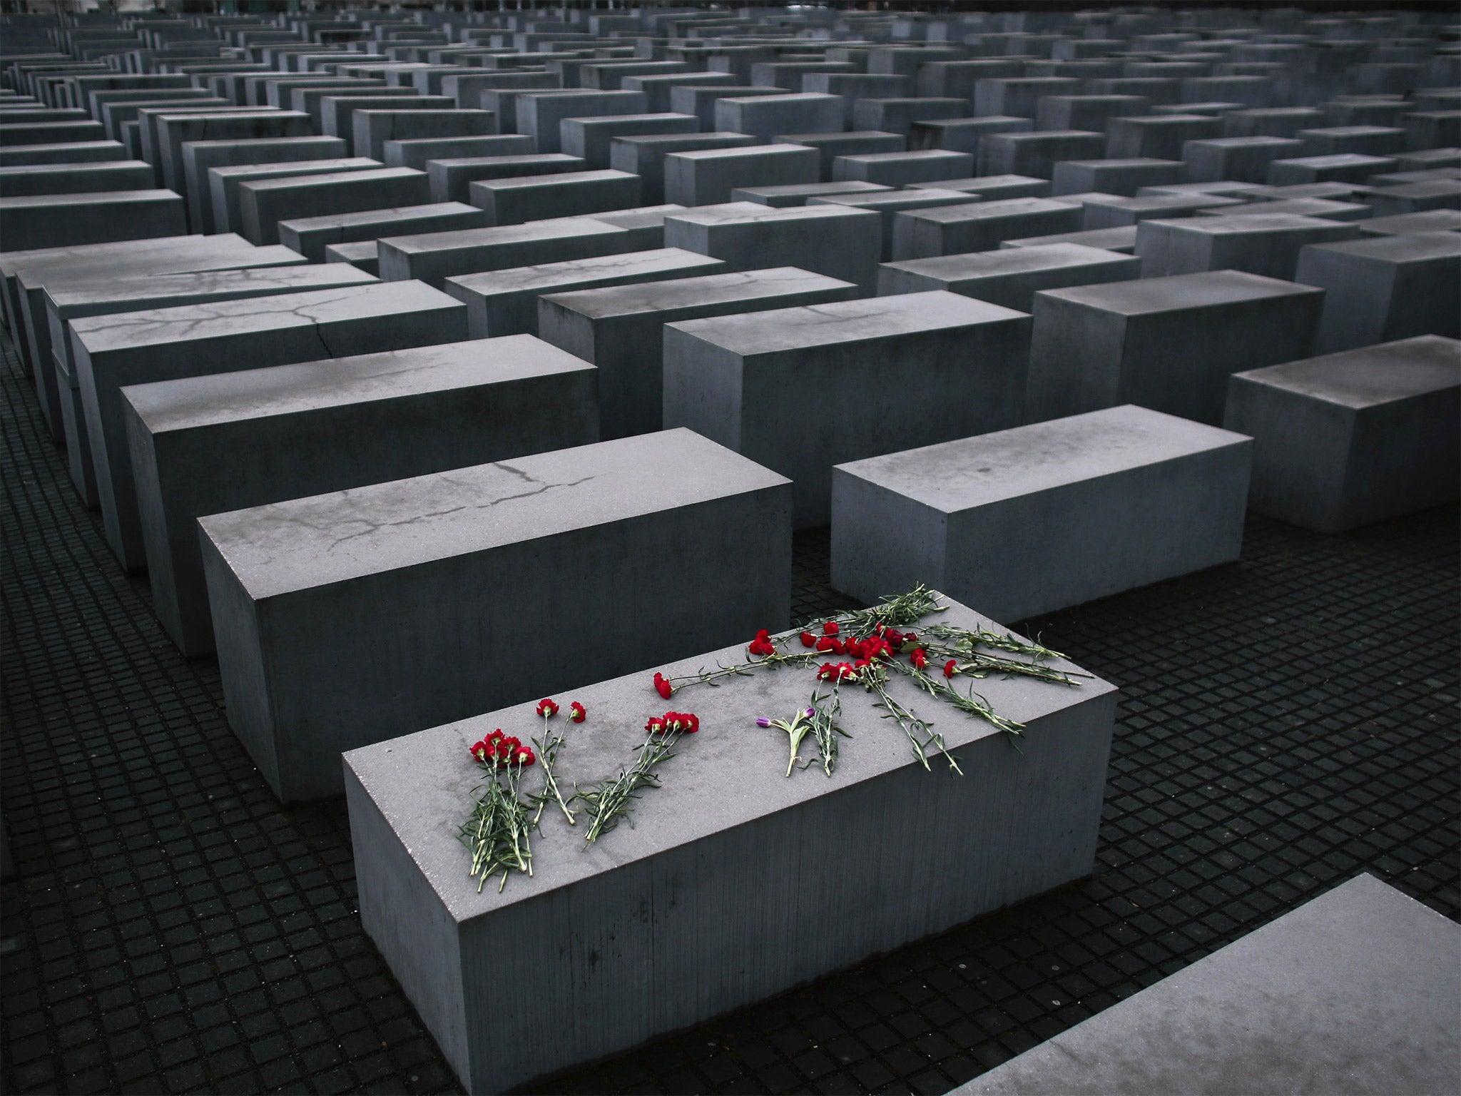
M1037 292L1026 421L1135 403L1217 425L1233 373L1309 357L1322 302L1239 270Z

